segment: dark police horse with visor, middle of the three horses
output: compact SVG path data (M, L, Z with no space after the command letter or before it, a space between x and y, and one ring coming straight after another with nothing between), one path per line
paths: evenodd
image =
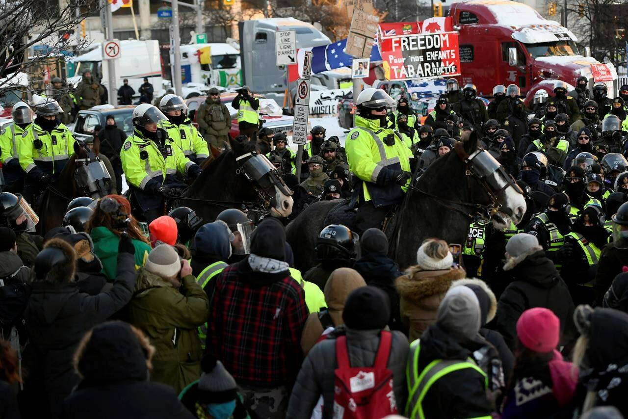
M229 143L231 147L210 161L176 202L195 210L205 222L227 208L247 209L251 219L268 213L288 217L292 192L268 158L256 153L256 141L238 136Z

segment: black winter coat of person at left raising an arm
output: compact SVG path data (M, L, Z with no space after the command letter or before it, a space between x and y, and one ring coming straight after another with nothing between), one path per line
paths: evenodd
M78 383L72 366L78 342L85 332L131 300L135 276L133 254L120 253L116 280L107 292L90 296L78 292L76 283L33 283L24 318L31 342L27 349L33 351L35 364L30 366L25 389L35 393L30 400L39 400L38 406L33 406L41 409L39 415L60 415L63 399ZM51 416L45 413L48 409Z

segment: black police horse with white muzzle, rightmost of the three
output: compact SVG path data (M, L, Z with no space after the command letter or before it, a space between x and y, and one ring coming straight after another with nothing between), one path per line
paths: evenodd
M416 263L416 251L429 237L448 243L465 242L476 214L504 229L519 223L526 211L521 189L504 168L477 144L471 133L455 150L438 158L412 183L389 227L391 258L401 268ZM316 264L318 233L329 221L327 214L340 200L320 201L306 208L286 229L295 265L301 271ZM394 231L390 231L394 229Z

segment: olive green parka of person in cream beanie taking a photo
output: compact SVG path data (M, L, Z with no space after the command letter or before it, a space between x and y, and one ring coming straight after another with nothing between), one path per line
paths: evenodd
M179 394L201 373L203 351L197 327L207 321L207 294L193 275L181 288L141 268L129 303L131 324L148 336L155 347L151 381L168 384Z

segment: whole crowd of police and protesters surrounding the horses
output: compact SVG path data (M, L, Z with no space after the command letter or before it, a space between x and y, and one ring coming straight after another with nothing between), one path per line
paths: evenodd
M628 86L553 90L529 109L499 85L487 107L448 80L421 124L406 97L364 89L344 144L315 126L298 161L243 87L239 140L293 200L261 220L168 208L234 141L218 89L198 128L168 93L134 109L131 136L108 118L90 143L65 102L19 102L0 137L0 419L628 415ZM428 238L399 266L382 222L470 136L525 214L503 230L477 215L464 243ZM108 194L45 229L38 197L72 155L102 163ZM297 266L286 225L335 199L355 219L317 231L316 264Z

